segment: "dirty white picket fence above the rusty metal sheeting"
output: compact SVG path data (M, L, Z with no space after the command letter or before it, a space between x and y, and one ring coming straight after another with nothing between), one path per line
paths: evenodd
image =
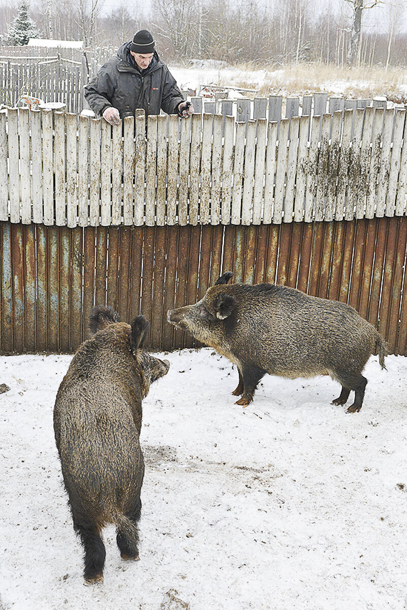
M407 213L405 110L269 122L0 112L0 220L269 224Z

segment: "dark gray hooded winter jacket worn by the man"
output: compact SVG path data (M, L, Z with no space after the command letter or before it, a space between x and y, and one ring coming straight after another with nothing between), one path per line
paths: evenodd
M168 114L177 114L183 101L177 82L154 51L150 65L139 70L130 55L131 41L118 49L116 57L105 63L96 76L85 85L85 99L96 115L113 106L120 118L132 117L136 108L147 115L158 115L162 108Z

